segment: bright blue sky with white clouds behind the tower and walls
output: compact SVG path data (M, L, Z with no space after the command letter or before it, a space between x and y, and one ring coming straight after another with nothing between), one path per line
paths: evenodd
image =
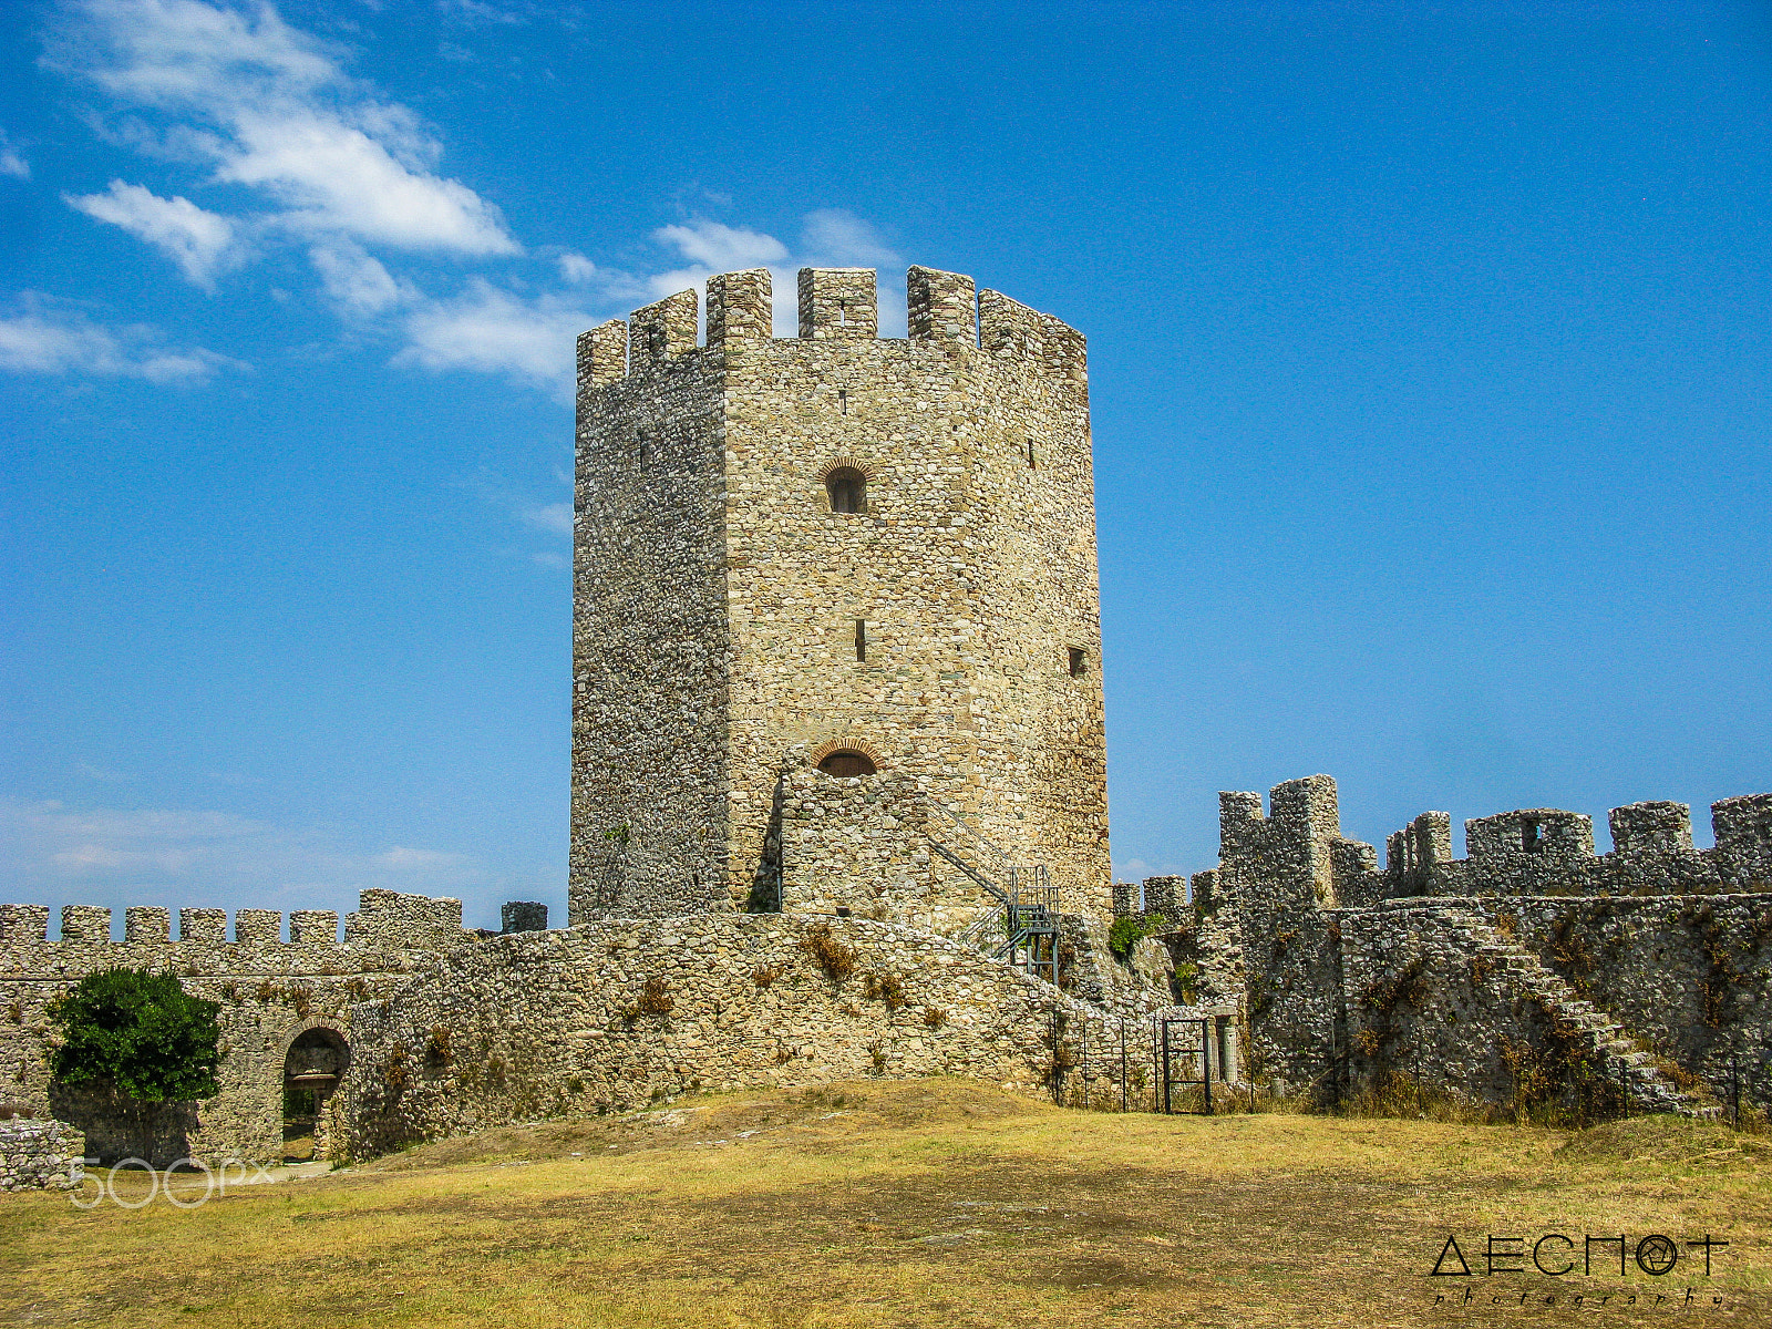
M572 337L758 264L1088 333L1123 874L1317 771L1368 840L1772 789L1763 5L0 37L0 898L560 921Z

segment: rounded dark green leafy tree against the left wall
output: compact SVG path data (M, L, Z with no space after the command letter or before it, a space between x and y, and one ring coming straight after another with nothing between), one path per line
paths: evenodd
M190 996L170 973L89 973L50 1006L50 1019L62 1030L50 1070L64 1084L108 1088L124 1100L147 1157L149 1129L165 1104L220 1090L218 1010L218 1003Z

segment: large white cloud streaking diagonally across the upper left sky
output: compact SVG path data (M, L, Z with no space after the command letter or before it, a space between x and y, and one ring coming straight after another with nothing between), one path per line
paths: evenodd
M436 174L441 144L374 99L338 53L260 4L83 0L53 60L122 106L168 117L159 149L207 161L214 183L257 190L257 222L307 237L457 255L521 246L498 209Z

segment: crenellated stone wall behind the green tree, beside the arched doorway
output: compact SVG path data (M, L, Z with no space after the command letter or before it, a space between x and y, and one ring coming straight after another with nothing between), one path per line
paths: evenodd
M222 909L181 909L181 939L168 937L170 911L131 907L126 941L110 941L112 911L67 905L64 936L46 939L50 909L0 905L0 1100L73 1122L87 1148L105 1159L140 1150L135 1125L115 1106L66 1086L51 1086L50 1005L99 969L172 971L186 992L220 1005L220 1093L161 1113L154 1159L275 1159L282 1155L284 1054L317 1024L349 1038L353 1003L385 996L404 982L418 950L448 939L475 941L459 927L459 900L395 891L363 891L356 937L340 944L338 916L298 911L296 941L276 941L282 916L239 909L227 939ZM448 920L455 921L454 934Z

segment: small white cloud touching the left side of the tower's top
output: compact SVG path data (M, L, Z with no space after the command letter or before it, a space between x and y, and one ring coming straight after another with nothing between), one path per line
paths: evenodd
M429 301L408 317L395 363L507 372L571 395L578 335L594 323L576 301L525 299L473 278L462 296Z

